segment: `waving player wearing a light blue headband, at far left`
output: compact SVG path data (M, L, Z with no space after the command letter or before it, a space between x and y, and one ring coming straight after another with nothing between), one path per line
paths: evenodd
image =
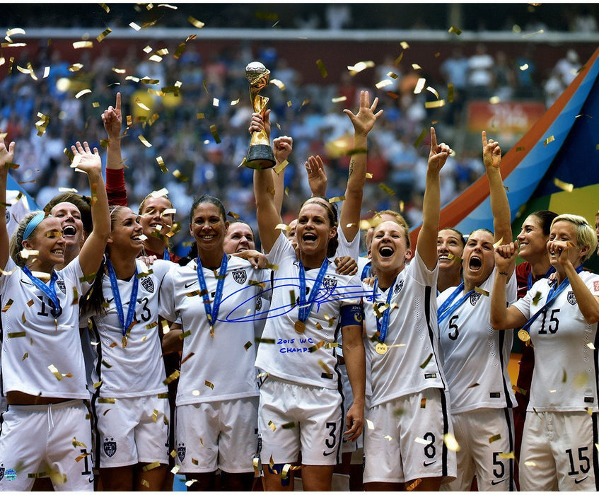
M61 221L37 211L11 239L0 226L2 381L8 402L0 433L1 490L31 489L49 472L55 490L93 491L91 424L79 338L79 298L98 270L110 234L98 150L71 146L73 167L87 173L93 196L93 231L64 269ZM14 144L0 140L0 214Z

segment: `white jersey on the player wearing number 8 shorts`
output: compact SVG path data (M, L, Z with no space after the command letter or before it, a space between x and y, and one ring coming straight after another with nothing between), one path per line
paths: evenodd
M370 361L374 407L397 397L426 388L445 388L438 363L438 329L435 291L438 267L433 271L417 253L395 283L386 291L376 290L376 303L382 322L389 291L392 291L389 326L384 354L376 349L377 318L373 308L373 287L364 284L364 320L366 322L366 361Z

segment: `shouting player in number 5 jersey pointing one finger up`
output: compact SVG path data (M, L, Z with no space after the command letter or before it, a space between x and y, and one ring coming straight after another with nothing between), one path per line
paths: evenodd
M443 371L448 380L458 476L442 490L467 491L476 475L481 491L513 490L513 417L516 400L508 362L513 332L494 332L489 323L494 277L494 243L511 240L511 219L499 165L501 148L482 132L482 157L490 188L494 231L479 229L463 250L463 283L438 298ZM516 279L504 288L516 299ZM484 439L484 441L481 441ZM492 439L489 441L489 439Z

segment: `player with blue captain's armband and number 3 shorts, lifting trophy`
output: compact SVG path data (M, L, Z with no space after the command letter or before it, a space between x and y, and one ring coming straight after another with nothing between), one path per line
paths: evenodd
M380 111L374 113L377 103L378 99L370 105L368 93L363 91L359 113L344 111L354 125L356 149L339 221L339 231L347 240L339 246L345 250L356 241L359 232L366 177L366 136L380 115ZM318 157L311 158L318 161ZM358 277L335 274L328 259L336 251L333 243L337 237L337 219L335 209L321 198L308 199L298 214L297 259L293 245L279 231L281 216L274 202L273 185L270 170L255 170L260 240L269 262L278 267L269 320L264 327L264 339L274 339L274 344L262 342L256 359L257 368L268 377L260 388L259 411L264 489L292 490L291 470L287 465L297 462L301 452L304 489L330 490L343 434L342 396L338 392L341 376L336 352L339 327L354 393L354 404L347 412L349 429L344 432L349 440L360 436L364 419L361 284ZM358 251L359 242L356 242L354 257ZM351 253L337 252L341 254Z

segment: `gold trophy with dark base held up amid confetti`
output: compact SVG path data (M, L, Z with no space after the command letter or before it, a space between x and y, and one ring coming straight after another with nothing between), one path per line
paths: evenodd
M245 78L250 81L250 98L255 113L264 115L268 98L260 96L260 91L268 86L270 71L260 62L251 62L245 67ZM248 168L263 170L275 165L274 153L270 146L270 139L265 129L252 132L250 149L245 157L244 165Z

